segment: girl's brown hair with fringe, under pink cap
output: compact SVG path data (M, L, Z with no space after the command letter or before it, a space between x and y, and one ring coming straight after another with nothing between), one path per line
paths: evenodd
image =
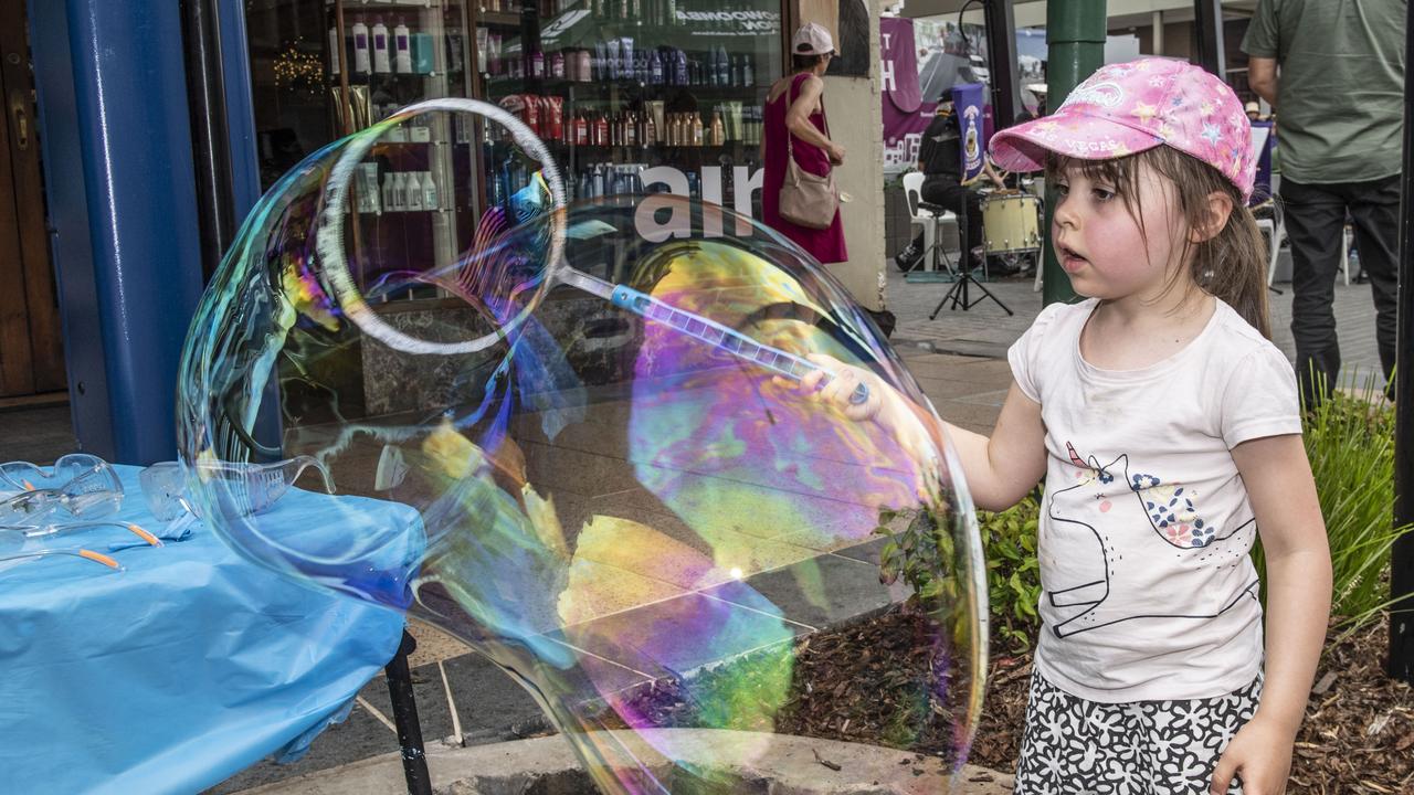
M1263 250L1261 232L1247 202L1237 187L1212 166L1168 146L1117 157L1114 160L1079 160L1052 154L1046 158L1046 178L1063 175L1068 168L1079 168L1087 180L1113 185L1114 192L1124 199L1126 209L1140 224L1144 233L1143 208L1140 207L1138 174L1141 166L1148 166L1158 175L1172 182L1178 216L1184 219L1182 229L1203 226L1208 219L1208 197L1213 192L1226 194L1233 209L1222 231L1200 243L1184 236L1182 260L1189 263L1193 284L1210 296L1226 301L1261 332L1271 338L1271 321L1267 315L1267 256ZM1172 287L1172 284L1169 284Z

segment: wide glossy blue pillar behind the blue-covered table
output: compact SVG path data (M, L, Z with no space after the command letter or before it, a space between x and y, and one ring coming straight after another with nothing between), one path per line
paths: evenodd
M79 444L173 458L202 289L178 4L30 0L30 24Z

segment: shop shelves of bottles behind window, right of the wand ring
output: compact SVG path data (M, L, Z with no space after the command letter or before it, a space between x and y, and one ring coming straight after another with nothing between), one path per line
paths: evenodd
M779 1L549 0L519 24L478 20L475 42L485 98L550 144L571 198L687 185L721 202L738 171L752 181L759 170ZM706 182L727 192L704 195ZM752 204L735 209L752 215Z

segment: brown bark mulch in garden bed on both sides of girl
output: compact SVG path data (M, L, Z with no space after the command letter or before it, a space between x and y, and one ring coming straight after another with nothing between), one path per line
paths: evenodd
M1297 738L1288 792L1414 795L1414 689L1384 675L1386 641L1387 622L1381 620L1328 645ZM950 761L953 741L946 712L919 703L916 695L929 646L923 621L898 611L810 635L790 655L795 671L786 703L769 719L762 713L752 720L751 710L738 710L728 723L745 730L906 748ZM701 676L730 678L740 685L745 675L773 689L779 682L771 682L764 672L779 671L778 663L779 658L747 659ZM1011 772L1025 720L1031 656L994 654L990 665L987 699L969 761ZM710 680L694 682L691 690L703 693L704 685L710 690ZM663 683L641 699L639 707L659 726L713 717L700 714L683 689ZM918 710L926 709L940 712L940 719L925 720ZM921 726L928 726L922 734Z

